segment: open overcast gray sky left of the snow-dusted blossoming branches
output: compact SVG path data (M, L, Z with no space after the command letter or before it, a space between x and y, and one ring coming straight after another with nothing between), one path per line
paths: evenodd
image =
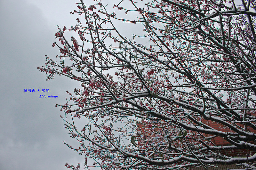
M77 16L74 0L0 0L0 169L61 170L65 163L83 164L84 156L69 149L74 144L63 128L59 107L65 103L65 91L75 82L46 77L37 70L44 55L56 56L55 25L70 28ZM37 89L49 89L48 93ZM35 92L24 92L35 89ZM58 98L39 98L40 95Z

